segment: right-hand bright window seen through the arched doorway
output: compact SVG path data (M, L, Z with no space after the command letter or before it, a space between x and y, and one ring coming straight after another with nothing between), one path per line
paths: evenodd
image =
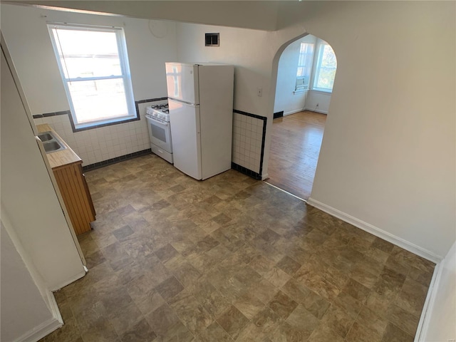
M333 48L322 42L318 48L318 58L315 68L314 90L331 92L336 77L337 60Z

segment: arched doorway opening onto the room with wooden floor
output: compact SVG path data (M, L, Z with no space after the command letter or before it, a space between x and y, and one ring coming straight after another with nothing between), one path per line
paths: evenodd
M311 195L336 68L331 46L312 35L291 41L278 61L266 182L304 200Z

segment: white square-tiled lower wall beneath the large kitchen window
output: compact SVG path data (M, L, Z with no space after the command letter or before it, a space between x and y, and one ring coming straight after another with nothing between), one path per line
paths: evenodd
M139 103L141 120L110 125L73 133L68 115L34 119L35 125L47 123L83 160L83 166L102 162L150 148L149 132L145 120L147 105L165 103L166 100Z

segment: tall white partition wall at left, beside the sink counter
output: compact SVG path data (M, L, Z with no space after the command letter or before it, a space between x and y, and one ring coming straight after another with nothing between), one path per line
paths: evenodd
M2 216L46 288L60 289L85 271L3 53L0 145Z

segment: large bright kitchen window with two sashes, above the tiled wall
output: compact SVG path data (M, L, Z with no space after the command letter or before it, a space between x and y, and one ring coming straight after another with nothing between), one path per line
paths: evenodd
M139 120L123 28L48 24L74 130Z

